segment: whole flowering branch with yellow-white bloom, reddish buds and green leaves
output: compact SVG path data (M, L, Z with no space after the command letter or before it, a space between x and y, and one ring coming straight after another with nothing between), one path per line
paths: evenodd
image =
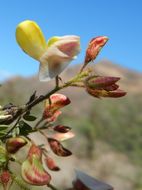
M119 77L99 76L92 68L86 68L108 41L106 36L93 38L89 42L80 71L64 83L59 75L80 52L79 36L54 36L46 42L40 27L34 21L26 20L17 26L16 40L25 53L39 62L39 80L49 81L55 78L55 87L45 95L37 96L34 92L24 106L7 104L0 107L0 182L4 190L10 189L13 183L17 183L21 189L26 189L23 181L56 190L58 188L52 185L50 170L59 171L60 166L55 163L50 152L59 157L72 155L71 151L62 145L62 141L74 137L71 127L55 125L63 107L71 103L68 97L58 91L67 87L78 87L96 98L119 98L126 92L120 90L116 84L120 80ZM43 101L45 107L41 118L36 118L31 114L32 108ZM36 122L31 127L28 121ZM46 139L48 149L31 139L29 134L34 132L39 132ZM20 152L22 147L27 147L27 156L25 160L19 161L16 153ZM20 164L23 181L11 168L13 162ZM95 189L97 185L102 190L112 189L111 186L96 182L78 171L72 189Z

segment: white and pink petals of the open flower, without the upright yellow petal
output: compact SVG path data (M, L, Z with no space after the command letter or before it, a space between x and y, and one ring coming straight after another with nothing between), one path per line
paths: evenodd
M40 81L49 81L59 75L80 52L78 36L64 36L57 41L51 38L50 41L54 42L40 57Z

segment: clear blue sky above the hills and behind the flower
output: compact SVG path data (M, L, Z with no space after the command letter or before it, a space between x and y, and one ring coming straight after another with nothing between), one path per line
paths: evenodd
M23 53L15 40L15 29L23 20L34 20L48 39L54 35L81 37L83 61L88 41L99 35L109 37L98 56L124 67L142 71L141 0L1 0L0 80L11 75L30 76L38 62Z

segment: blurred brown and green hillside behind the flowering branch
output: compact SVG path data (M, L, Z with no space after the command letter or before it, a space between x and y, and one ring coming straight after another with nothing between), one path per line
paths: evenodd
M63 110L59 122L71 126L76 137L67 143L75 156L64 163L59 161L63 165L61 174L72 175L78 166L112 184L116 190L142 190L142 74L107 60L93 67L99 75L121 77L120 86L128 94L120 99L100 100L82 89L62 91L72 104ZM61 76L63 81L74 76L79 68L79 65L69 67ZM53 86L54 81L40 83L35 76L15 77L0 88L0 104L22 105L35 90L43 94ZM38 105L33 111L40 114L42 106ZM55 177L59 180L58 174ZM62 179L65 185L70 181L67 177L64 175Z

